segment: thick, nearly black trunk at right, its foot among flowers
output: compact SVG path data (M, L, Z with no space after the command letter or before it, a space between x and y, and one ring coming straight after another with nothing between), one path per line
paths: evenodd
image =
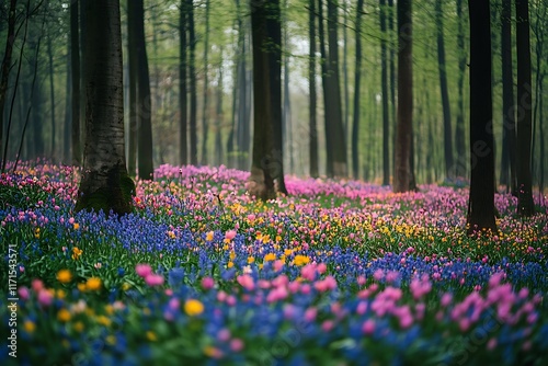
M494 210L494 151L490 128L491 24L489 0L468 0L470 14L470 196L468 233L496 232Z

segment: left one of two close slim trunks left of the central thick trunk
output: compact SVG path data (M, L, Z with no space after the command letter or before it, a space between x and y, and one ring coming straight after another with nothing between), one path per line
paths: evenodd
M181 165L189 163L187 134L187 91L186 91L186 0L181 0L179 15L179 160Z

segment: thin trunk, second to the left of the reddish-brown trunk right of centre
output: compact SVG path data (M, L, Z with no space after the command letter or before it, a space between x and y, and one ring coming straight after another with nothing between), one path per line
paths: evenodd
M364 0L357 0L356 5L356 70L354 75L354 118L352 124L352 174L354 179L358 179L359 161L358 161L358 134L359 134L359 99L362 82L362 19L364 11ZM386 73L386 65L385 65ZM384 99L386 95L383 96ZM387 106L388 111L388 106ZM388 123L388 122L387 122Z

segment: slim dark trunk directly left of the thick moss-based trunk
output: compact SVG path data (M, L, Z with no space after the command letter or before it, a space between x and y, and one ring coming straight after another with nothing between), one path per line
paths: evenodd
M72 164L80 165L82 162L82 144L80 137L80 35L79 35L79 1L70 2L70 66L72 79Z

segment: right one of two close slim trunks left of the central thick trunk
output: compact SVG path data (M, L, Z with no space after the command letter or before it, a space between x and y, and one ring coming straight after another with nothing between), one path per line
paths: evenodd
M194 1L187 0L186 11L189 14L189 78L190 78L190 93L191 93L191 164L198 163L198 136L196 126L196 112L197 112L197 90L196 90L196 33L194 27Z

